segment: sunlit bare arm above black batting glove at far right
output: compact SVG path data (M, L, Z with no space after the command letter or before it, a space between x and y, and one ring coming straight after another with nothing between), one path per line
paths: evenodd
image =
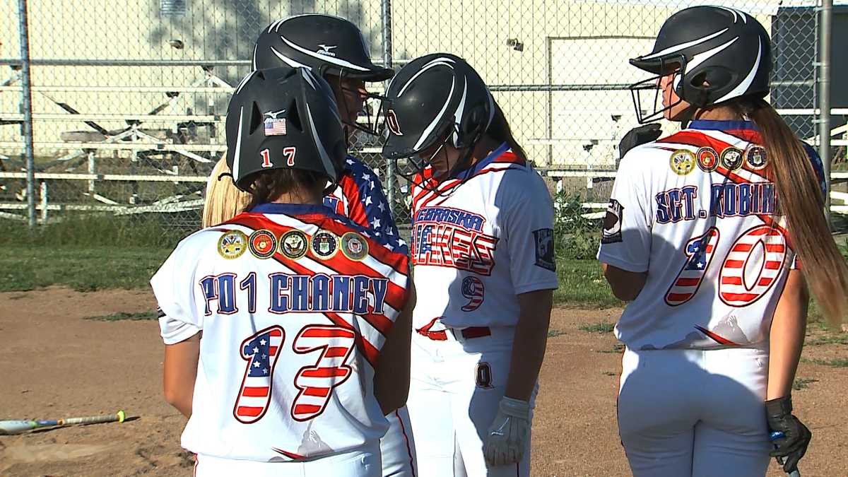
M801 359L810 295L801 270L789 271L786 286L774 310L768 356L766 399L789 396Z

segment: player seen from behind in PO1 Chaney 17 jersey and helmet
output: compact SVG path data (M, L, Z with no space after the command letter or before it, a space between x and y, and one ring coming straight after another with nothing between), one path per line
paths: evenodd
M248 212L184 239L151 280L165 396L198 475L382 475L409 379L406 255L321 205L343 169L332 91L254 71L227 114Z

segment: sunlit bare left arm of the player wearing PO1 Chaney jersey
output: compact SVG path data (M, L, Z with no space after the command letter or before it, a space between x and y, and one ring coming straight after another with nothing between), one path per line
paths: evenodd
M198 377L200 334L173 345L165 345L165 366L162 379L165 401L187 418L192 415L194 381Z

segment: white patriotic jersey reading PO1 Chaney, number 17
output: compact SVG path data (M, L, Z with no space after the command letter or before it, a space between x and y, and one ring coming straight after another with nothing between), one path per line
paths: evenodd
M165 344L202 332L182 446L302 461L386 432L374 365L409 263L320 205L265 204L183 239L151 280Z

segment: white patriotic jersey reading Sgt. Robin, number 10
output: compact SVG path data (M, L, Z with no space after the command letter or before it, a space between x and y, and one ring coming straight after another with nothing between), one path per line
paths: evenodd
M692 121L622 158L598 259L648 272L616 325L628 348L712 349L768 339L796 263L761 144L751 122ZM806 149L823 177L821 161Z

